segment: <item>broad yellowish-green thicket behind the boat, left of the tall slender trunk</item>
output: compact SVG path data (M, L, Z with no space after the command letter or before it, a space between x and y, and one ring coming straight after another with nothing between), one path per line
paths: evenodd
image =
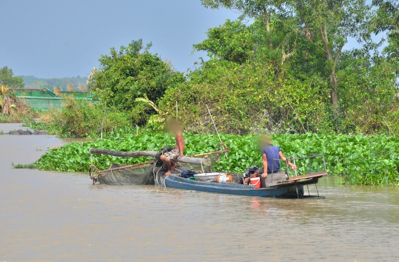
M159 106L172 111L179 100L185 130L214 132L206 104L224 133L325 132L326 85L318 78L296 80L275 74L267 62L237 64L212 59L188 75L190 81L168 89ZM175 109L176 110L176 109Z

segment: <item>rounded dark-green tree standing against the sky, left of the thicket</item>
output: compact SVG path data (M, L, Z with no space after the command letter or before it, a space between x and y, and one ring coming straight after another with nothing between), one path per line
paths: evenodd
M144 48L140 39L121 46L119 52L112 47L109 55L101 55L100 69L94 69L88 80L92 92L116 109L129 112L136 124L145 123L154 113L151 107L137 104L136 98L147 95L156 102L169 86L185 81L170 63L149 52L151 45Z

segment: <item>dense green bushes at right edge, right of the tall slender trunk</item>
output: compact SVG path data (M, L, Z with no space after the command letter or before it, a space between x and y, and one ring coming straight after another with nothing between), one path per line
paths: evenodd
M341 79L340 131L398 134L399 96L392 64L385 59L372 63L369 53L343 53L337 76Z

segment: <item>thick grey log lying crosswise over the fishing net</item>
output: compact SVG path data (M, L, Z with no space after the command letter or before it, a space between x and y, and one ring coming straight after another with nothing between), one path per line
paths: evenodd
M136 151L136 152L123 152L123 151L112 151L100 148L90 148L89 152L91 154L103 154L115 157L155 157L158 153L157 151ZM178 157L177 162L189 163L192 165L203 165L209 166L210 161L208 159L195 158L195 157Z

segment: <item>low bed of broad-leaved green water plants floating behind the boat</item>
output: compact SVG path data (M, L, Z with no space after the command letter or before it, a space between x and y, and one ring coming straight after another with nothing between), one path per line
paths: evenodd
M185 155L211 152L219 144L215 134L198 135L185 134ZM261 166L259 147L256 136L221 135L223 142L230 147L228 159L223 155L214 170L224 170L242 173L247 167ZM286 157L296 158L314 153L325 154L326 165L330 175L345 176L346 183L363 185L395 185L399 186L399 154L397 148L399 139L386 135L376 136L347 136L347 135L318 135L306 133L302 135L274 135L273 140ZM90 148L107 148L118 151L158 150L166 144L173 144L174 137L169 134L140 134L134 130L117 129L112 136L104 140L72 143L60 149L50 149L41 156L34 165L42 170L57 171L87 171L90 165ZM119 158L104 155L93 155L95 164L107 168L109 164L135 164L148 159ZM97 165L98 166L98 165ZM298 173L309 172L309 160L297 162ZM99 166L98 166L99 167ZM311 172L323 170L322 158L311 161Z

